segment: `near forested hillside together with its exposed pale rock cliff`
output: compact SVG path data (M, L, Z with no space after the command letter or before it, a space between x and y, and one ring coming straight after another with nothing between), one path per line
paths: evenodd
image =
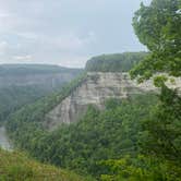
M142 153L138 147L144 143L142 124L159 102L149 90L155 90L152 81L137 85L126 73L83 74L59 93L13 113L7 122L8 133L16 147L40 161L100 178L110 173L101 161ZM48 112L56 121L49 114L47 118ZM69 119L77 116L77 120L61 124L67 112ZM159 174L164 178L165 171L160 170Z

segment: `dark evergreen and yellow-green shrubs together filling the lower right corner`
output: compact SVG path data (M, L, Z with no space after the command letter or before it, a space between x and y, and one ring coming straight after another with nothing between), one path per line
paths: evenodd
M161 86L158 104L148 119L141 122L137 156L100 161L108 173L102 181L180 181L181 180L181 98L176 90Z

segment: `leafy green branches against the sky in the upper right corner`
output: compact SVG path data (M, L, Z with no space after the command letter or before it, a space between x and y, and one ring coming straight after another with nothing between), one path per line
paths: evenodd
M150 53L132 71L132 77L149 79L156 72L181 75L181 1L153 0L143 3L133 17L140 41Z

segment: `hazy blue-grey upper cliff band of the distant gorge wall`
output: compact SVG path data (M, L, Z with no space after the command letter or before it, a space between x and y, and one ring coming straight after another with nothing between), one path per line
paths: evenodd
M38 85L52 90L70 82L81 72L81 69L68 69L58 65L2 64L0 65L0 88L11 85Z

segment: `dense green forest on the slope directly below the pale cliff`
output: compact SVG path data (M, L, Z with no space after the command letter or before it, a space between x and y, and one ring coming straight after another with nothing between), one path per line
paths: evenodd
M41 161L99 176L106 170L97 165L98 161L138 152L141 120L147 117L155 102L154 95L137 95L121 101L111 99L107 101L106 110L90 106L79 122L48 133L40 125L44 114L38 110L39 106L47 105L44 101L32 110L23 109L13 114L9 132L21 148Z

